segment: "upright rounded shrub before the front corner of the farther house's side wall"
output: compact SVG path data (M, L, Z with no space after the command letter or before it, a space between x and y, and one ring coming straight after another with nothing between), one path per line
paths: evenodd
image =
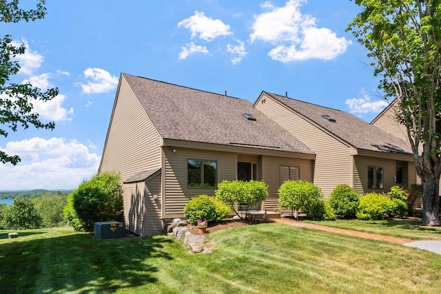
M338 218L355 218L358 204L360 204L360 196L349 185L338 185L331 192L329 204L336 212Z

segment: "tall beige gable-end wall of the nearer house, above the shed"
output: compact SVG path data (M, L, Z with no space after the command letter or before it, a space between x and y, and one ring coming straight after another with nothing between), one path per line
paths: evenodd
M125 180L161 167L161 138L124 78L107 134L99 172L118 171Z

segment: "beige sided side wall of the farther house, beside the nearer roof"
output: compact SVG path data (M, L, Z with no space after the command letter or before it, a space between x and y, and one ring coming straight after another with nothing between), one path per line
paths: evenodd
M352 185L351 147L322 131L291 109L265 96L256 108L316 153L314 184L328 196L338 184Z

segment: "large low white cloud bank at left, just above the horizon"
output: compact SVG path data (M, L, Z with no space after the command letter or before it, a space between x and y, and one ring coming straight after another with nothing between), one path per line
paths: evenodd
M0 189L74 189L96 174L101 160L82 143L65 138L35 137L0 149L21 157L16 166L0 165Z

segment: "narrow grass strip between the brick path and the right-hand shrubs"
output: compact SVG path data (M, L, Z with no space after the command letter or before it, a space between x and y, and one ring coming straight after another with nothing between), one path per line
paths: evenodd
M325 222L308 220L305 222L411 240L441 240L441 227L421 226L421 220L336 220Z

